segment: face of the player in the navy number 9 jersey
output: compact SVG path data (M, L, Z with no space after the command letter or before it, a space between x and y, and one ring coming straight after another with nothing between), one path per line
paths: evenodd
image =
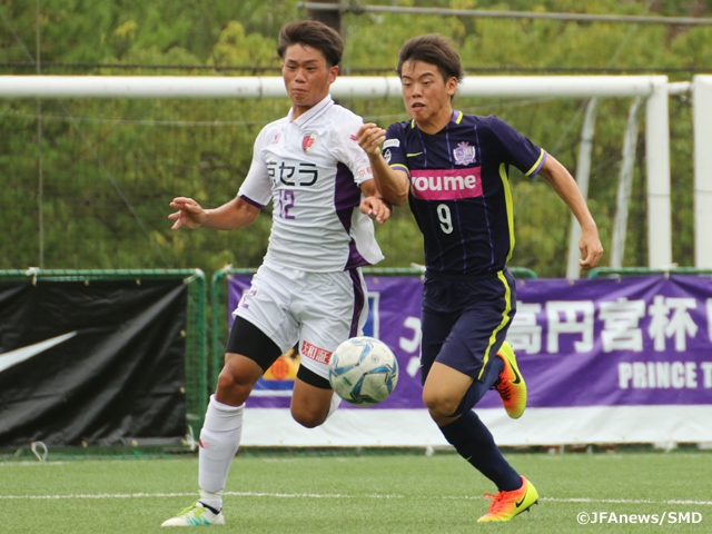
M431 134L444 128L453 115L451 99L457 90L457 79L444 80L436 65L406 61L400 82L405 109L418 127Z

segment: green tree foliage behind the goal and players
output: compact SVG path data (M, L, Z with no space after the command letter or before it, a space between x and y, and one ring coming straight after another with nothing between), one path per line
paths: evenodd
M376 2L374 2L376 3ZM388 2L380 2L388 3ZM665 0L433 0L395 2L454 9L709 16L711 1ZM34 2L0 0L0 63L36 56ZM166 75L215 76L210 67L277 69L276 39L288 20L303 18L296 0L41 0L43 62L139 66L96 73L146 75L146 66L175 66ZM649 9L649 11L646 11ZM342 72L395 69L408 38L441 32L463 63L476 68L611 67L703 68L712 71L712 28L552 20L346 13ZM17 38L16 38L17 34ZM18 40L19 39L19 40ZM21 41L21 43L20 43ZM182 66L207 69L186 70ZM0 67L3 73L28 73ZM393 71L393 70L392 70ZM83 72L83 71L82 71ZM473 75L474 76L474 75ZM683 73L673 79L689 80ZM289 109L286 100L47 100L41 103L43 243L40 245L38 102L0 100L0 268L200 267L210 274L230 263L261 261L270 227L266 209L233 233L170 231L168 204L191 196L207 207L237 192L260 128ZM382 126L407 118L399 99L345 100ZM589 205L610 248L623 132L630 99L601 101ZM575 176L585 101L464 99L455 107L496 113L561 160ZM68 112L71 116L68 117ZM673 259L693 265L692 125L685 99L670 102ZM641 128L642 131L642 128ZM624 265L647 264L644 139L639 138ZM563 276L571 215L551 188L513 170L516 243L512 265L540 276ZM423 244L407 207L377 228L384 266L423 263ZM607 256L603 264L607 265Z

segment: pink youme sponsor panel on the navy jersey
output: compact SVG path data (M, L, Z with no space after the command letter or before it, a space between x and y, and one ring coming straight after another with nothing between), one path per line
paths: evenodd
M457 200L482 196L479 167L418 169L411 172L413 196L423 200Z

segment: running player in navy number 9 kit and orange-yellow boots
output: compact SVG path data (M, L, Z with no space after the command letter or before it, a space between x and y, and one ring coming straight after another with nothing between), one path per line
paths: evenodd
M515 283L506 267L514 247L510 167L544 177L573 211L582 227L583 269L596 266L603 247L564 166L496 117L453 109L464 71L445 38L408 40L397 72L412 119L387 131L366 123L358 142L383 198L398 206L407 199L423 233L423 400L447 442L497 486L478 522L510 521L538 494L472 411L491 388L511 417L526 407L526 385L505 342L516 312Z

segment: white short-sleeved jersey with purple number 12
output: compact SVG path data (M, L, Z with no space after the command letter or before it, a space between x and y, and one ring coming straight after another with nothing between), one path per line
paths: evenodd
M330 96L291 115L259 132L238 191L259 208L274 202L265 261L313 273L380 261L373 221L358 209L359 185L373 178L356 141L363 120Z

